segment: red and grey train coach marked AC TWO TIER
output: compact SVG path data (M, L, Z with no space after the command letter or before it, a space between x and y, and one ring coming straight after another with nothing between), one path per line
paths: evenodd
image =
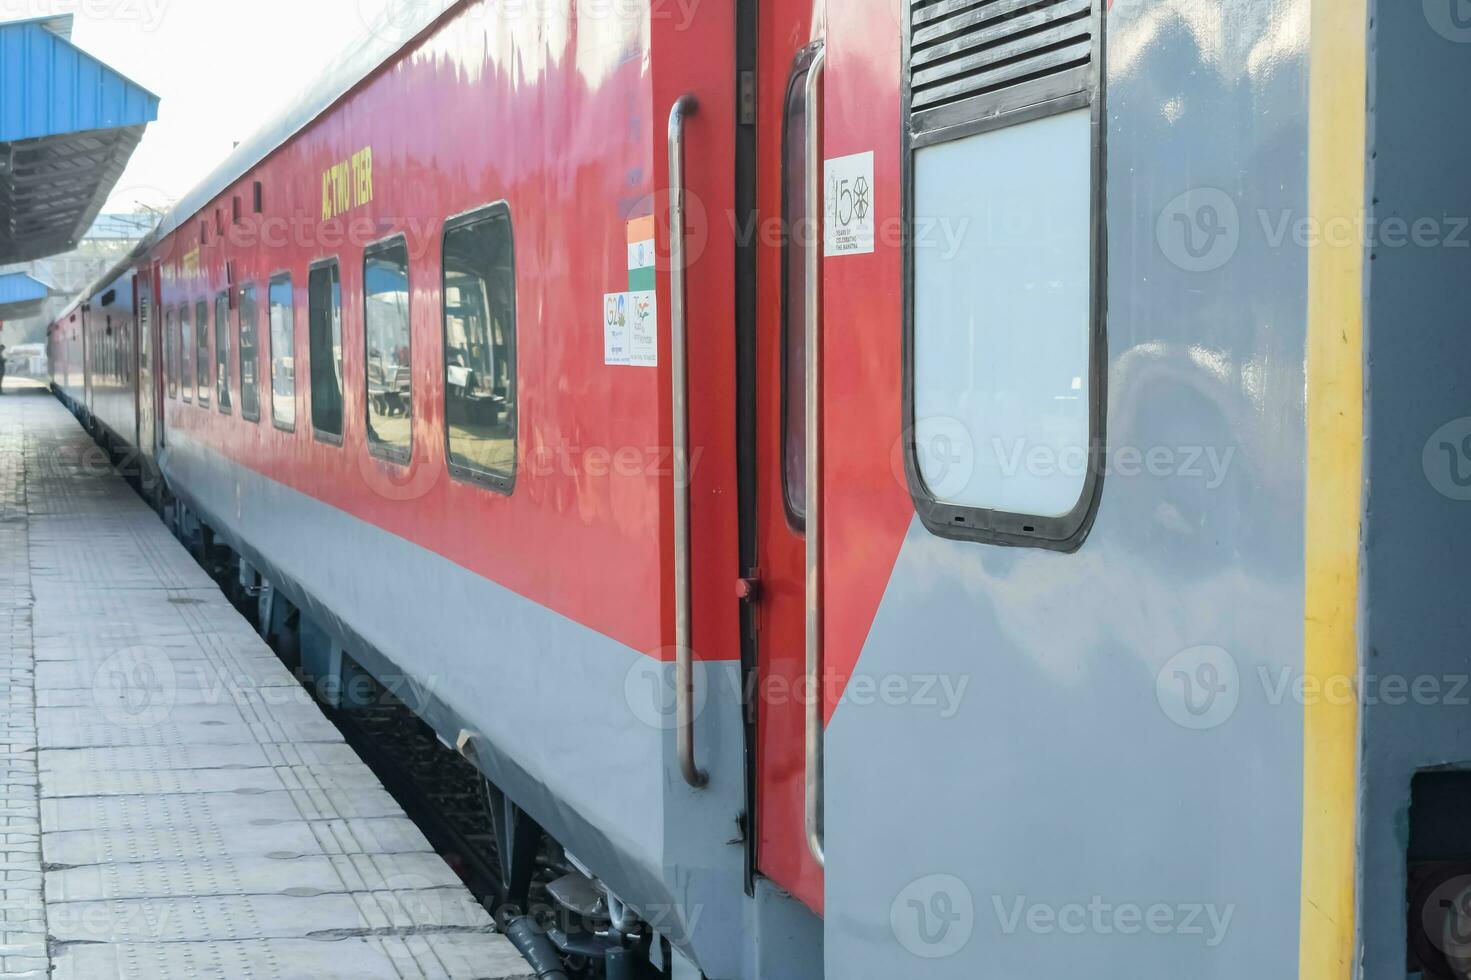
M407 9L53 386L568 962L1471 977L1453 4Z

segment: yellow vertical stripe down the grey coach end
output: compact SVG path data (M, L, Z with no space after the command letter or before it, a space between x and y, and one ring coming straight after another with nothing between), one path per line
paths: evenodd
M1365 213L1368 0L1311 0L1308 207L1314 227ZM1343 225L1349 219L1352 224ZM1352 235L1350 235L1352 237ZM1308 256L1308 500L1303 658L1309 678L1358 678L1364 438L1364 243L1319 234ZM1333 687L1319 687L1333 690ZM1300 980L1355 970L1359 709L1303 715Z

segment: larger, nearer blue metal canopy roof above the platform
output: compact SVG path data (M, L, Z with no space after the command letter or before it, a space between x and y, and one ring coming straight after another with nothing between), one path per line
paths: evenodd
M0 262L75 247L157 115L71 43L69 16L0 24Z

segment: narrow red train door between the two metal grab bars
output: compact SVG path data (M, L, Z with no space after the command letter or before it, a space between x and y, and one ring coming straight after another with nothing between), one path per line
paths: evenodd
M809 155L821 135L822 46L812 0L761 4L758 40L758 316L755 352L756 871L822 911L821 697L809 672L809 565L821 524L809 464L811 331L821 221ZM821 153L816 155L821 159Z

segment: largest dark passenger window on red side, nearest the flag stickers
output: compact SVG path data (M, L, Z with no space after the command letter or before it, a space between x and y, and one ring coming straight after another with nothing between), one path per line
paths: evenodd
M510 493L516 477L516 262L506 205L446 227L443 297L450 472Z

